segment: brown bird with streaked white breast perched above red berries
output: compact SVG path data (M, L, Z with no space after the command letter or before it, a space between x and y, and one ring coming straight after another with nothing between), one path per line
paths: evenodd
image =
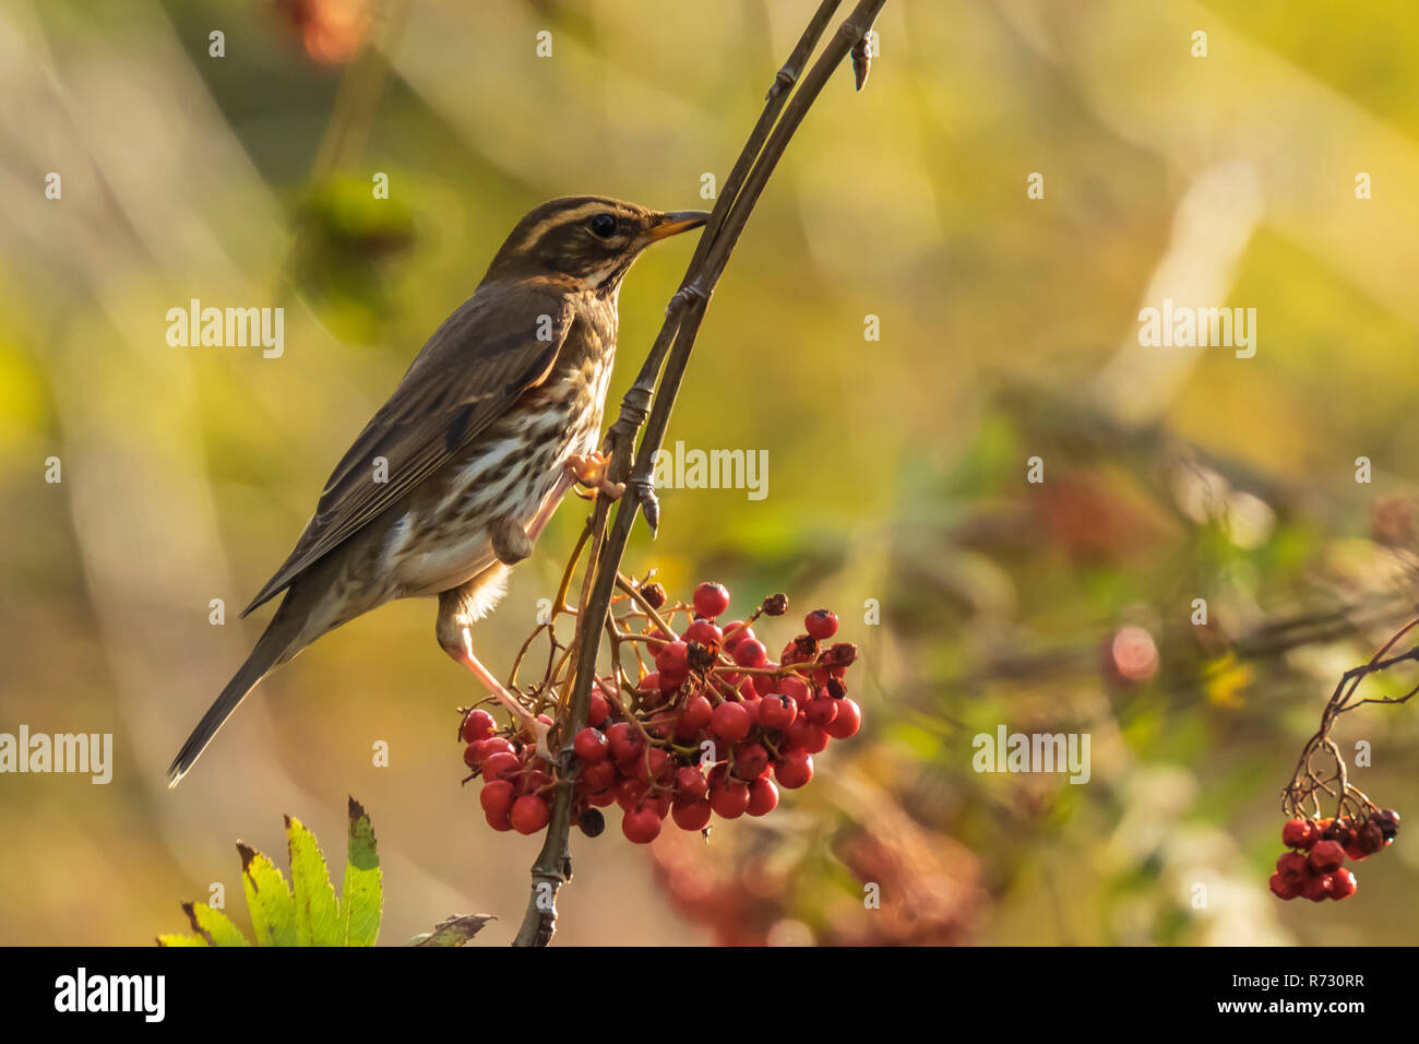
M438 645L546 753L545 727L473 655L470 626L502 597L508 567L532 554L573 482L619 493L596 446L622 278L647 246L708 217L573 196L518 222L473 297L365 425L291 557L241 614L285 592L177 753L167 785L274 666L394 598L438 595Z

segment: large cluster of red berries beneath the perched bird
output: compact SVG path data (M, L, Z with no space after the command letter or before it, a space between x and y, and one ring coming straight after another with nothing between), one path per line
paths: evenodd
M729 592L719 584L700 584L688 605L664 614L658 584L641 584L631 597L639 609L613 619L617 642L636 651L636 682L620 670L597 679L586 726L572 739L573 818L587 835L604 830L600 810L613 804L636 844L656 839L667 817L702 831L714 815L766 815L779 787L805 785L813 756L861 727L844 682L857 646L830 641L833 612L807 614L803 634L773 660L752 624L783 615L783 595L724 625ZM671 621L681 614L687 622L677 628ZM465 714L460 736L464 761L482 777L488 824L521 834L546 827L556 780L535 744L498 734L481 709Z

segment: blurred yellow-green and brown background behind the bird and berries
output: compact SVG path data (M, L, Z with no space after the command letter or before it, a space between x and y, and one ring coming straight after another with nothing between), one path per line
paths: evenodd
M329 635L163 771L270 612L237 611L517 219L704 206L815 7L0 6L0 732L115 737L109 785L0 777L0 942L149 945L213 882L245 925L233 842L284 865L289 812L339 864L346 794L386 943L468 912L511 939L539 838L460 787L475 690L431 602ZM779 641L834 608L864 729L708 845L573 834L558 942L1416 942L1403 835L1344 905L1266 885L1301 744L1415 602L1412 4L890 0L877 30L867 88L844 68L775 173L671 425L766 450L768 496L663 490L626 558L678 597L786 591ZM691 249L627 280L612 409ZM284 307L284 354L170 347L192 298ZM1254 357L1139 347L1164 298L1256 308ZM495 669L583 517L478 626ZM1088 733L1090 781L975 773L1002 724ZM1335 737L1409 815L1419 706Z

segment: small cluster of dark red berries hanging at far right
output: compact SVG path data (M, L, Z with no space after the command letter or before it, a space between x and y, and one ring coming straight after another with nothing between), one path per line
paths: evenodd
M1345 859L1359 862L1395 839L1399 812L1371 811L1369 818L1288 820L1281 841L1291 851L1276 861L1271 891L1281 899L1305 896L1311 902L1348 899L1355 895L1355 875Z

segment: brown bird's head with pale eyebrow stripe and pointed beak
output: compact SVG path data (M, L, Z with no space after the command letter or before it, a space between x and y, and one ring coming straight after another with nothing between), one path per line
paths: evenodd
M555 274L612 293L641 250L707 220L704 210L664 213L606 196L553 199L518 222L484 281Z

